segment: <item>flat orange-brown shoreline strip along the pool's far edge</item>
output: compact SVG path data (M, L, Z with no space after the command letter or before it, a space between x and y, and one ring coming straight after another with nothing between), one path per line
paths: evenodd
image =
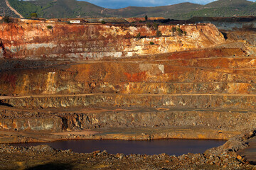
M72 132L0 131L0 143L55 142L58 140L229 140L241 132L206 128L112 128Z

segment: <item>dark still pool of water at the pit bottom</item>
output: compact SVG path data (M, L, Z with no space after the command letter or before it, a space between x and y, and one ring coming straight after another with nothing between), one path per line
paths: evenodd
M55 149L72 149L74 152L90 153L96 150L107 150L117 154L161 154L176 156L190 153L203 153L211 147L223 145L225 140L67 140L51 143L13 144L14 146L30 147L36 145L50 145Z

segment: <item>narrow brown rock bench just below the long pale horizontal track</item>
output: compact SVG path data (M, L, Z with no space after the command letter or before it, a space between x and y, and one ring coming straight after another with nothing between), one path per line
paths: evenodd
M134 107L134 108L256 108L255 96L241 95L112 95L94 94L82 96L47 96L10 98L1 101L6 106L18 108L65 107Z

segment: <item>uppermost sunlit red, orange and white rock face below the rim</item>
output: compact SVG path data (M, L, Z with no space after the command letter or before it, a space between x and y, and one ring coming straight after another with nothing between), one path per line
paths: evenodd
M4 58L87 60L131 57L211 47L224 42L212 24L180 26L186 36L172 36L173 26L91 26L61 23L13 23L0 25L6 48ZM137 35L140 33L140 37ZM150 45L154 42L154 45ZM2 56L3 57L3 56Z

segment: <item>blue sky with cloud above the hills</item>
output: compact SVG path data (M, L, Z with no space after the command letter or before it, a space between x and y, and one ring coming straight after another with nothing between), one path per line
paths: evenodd
M80 0L88 1L97 6L105 8L124 8L127 6L166 6L181 2L192 2L196 4L208 4L214 0ZM252 0L256 1L256 0Z

